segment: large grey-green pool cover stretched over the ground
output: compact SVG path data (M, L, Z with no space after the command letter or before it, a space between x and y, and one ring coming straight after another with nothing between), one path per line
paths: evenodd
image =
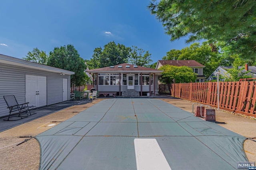
M244 136L160 99L105 99L38 136L40 170L136 169L135 138L155 138L172 170L236 169Z

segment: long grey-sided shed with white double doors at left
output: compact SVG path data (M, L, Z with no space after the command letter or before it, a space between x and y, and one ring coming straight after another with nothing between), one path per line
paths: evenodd
M0 54L0 117L8 115L4 95L42 107L70 100L73 71Z

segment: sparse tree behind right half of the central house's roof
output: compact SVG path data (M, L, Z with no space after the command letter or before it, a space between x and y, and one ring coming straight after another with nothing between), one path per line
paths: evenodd
M143 49L132 45L128 62L134 65L148 67L152 63L152 59L150 58L151 54L148 51L145 53Z

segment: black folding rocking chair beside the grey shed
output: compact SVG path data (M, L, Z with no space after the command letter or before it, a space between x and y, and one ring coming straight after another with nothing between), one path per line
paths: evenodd
M20 119L23 119L30 115L36 114L36 113L32 114L30 111L30 109L33 109L34 106L29 106L28 103L18 104L14 95L6 95L6 96L4 96L4 100L8 106L7 108L9 109L8 119L4 119L4 121L16 121L19 119L10 120L10 118L11 117L20 117ZM11 113L13 113L13 114L11 115ZM17 114L18 114L18 116L14 116ZM26 115L22 116L22 114L26 114Z

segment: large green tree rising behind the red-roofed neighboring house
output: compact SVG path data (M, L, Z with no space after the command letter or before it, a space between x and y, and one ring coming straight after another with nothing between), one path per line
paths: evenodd
M212 47L206 43L193 43L190 47L184 47L181 50L171 49L162 59L167 60L195 60L205 66L204 75L209 77L219 66L219 53L212 52Z

